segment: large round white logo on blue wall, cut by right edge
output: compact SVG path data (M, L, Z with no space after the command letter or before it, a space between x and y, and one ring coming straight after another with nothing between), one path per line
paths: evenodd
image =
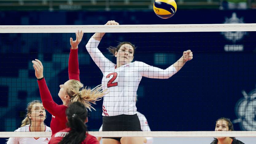
M242 91L243 97L235 106L237 119L233 123L239 123L244 131L256 130L256 88L248 94Z

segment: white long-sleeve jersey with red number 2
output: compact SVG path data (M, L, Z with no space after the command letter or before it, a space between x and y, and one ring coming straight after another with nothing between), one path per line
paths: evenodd
M99 51L99 42L91 38L86 49L103 73L102 89L108 89L108 94L103 98L103 116L134 115L137 111L137 89L142 77L165 79L177 72L173 65L163 70L139 61L117 68Z

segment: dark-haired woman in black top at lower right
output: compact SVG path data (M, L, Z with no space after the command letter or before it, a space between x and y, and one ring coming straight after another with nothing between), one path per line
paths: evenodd
M221 117L216 121L215 131L234 131L234 127L229 118ZM234 137L217 137L211 144L244 144Z

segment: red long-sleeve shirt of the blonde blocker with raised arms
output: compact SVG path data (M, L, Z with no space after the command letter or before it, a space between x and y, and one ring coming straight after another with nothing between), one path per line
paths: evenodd
M79 78L78 49L70 49L68 59L68 77L80 81ZM66 128L66 109L67 106L58 105L52 99L52 95L46 85L45 78L38 80L39 91L43 106L52 114L51 129L52 135Z

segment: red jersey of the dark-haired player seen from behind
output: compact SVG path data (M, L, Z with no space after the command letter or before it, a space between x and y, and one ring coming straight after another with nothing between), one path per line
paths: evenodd
M63 139L63 137L68 135L69 131L70 131L70 128L66 128L66 129L59 131L56 134L52 135L52 138L48 144L59 143ZM86 133L86 138L83 140L83 142L81 142L81 144L99 144L99 141L94 136Z

